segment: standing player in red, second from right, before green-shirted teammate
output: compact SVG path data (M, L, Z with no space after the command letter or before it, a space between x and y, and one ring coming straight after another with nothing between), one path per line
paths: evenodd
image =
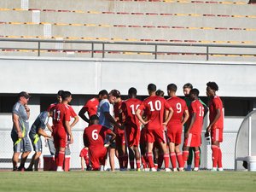
M185 140L183 146L183 160L184 162L189 158L189 148L195 147L195 168L194 171L199 170L200 161L200 145L201 145L201 129L204 119L204 107L198 99L199 90L192 89L189 92L189 99L192 101L189 107L189 123L188 129L185 132Z

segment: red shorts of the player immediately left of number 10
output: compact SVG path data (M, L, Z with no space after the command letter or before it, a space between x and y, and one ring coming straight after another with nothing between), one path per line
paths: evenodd
M125 125L125 133L128 146L138 147L141 137L140 126Z

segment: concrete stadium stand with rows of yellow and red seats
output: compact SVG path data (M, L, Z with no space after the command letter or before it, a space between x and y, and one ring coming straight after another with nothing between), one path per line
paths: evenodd
M106 0L93 2L86 0L9 2L3 0L0 3L0 37L132 43L255 45L255 19L255 6L241 0ZM9 44L0 42L0 47L9 48ZM15 44L18 48L24 46L20 45L21 43ZM59 44L44 47L41 55L66 56L67 52L75 53L71 54L74 56L90 55L86 53L87 48L86 46L84 48L82 44L62 44L62 49L65 49L62 53L60 53L61 49L56 49L56 47L60 47ZM122 45L122 49L115 49L112 45L108 47L109 53L107 52L105 56L120 57L121 54L122 57L128 58L131 56L132 58L134 56L154 58L151 53L154 49L150 47L146 49L145 46L131 49L133 45ZM184 52L184 48L181 47L175 47L175 51L173 47L171 48L169 54L163 51L158 58L205 59L205 51L201 51L201 48L186 48L189 52ZM73 49L80 49L80 51ZM37 55L36 49L1 50L1 55ZM218 49L215 54L212 54L211 59L219 60L221 56L221 60L255 61L254 53L254 49L229 49L226 55L221 55L222 51L219 52Z

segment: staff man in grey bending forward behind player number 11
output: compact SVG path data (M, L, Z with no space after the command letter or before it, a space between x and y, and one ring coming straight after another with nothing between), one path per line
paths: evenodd
M52 110L49 112L44 111L40 113L29 131L29 137L31 139L35 154L32 156L32 160L26 171L32 171L33 166L35 166L34 171L38 171L38 162L40 155L42 154L41 136L44 136L47 139L51 137L44 131L44 129L46 125L48 125L49 117L52 117L52 113ZM52 131L50 126L49 131Z

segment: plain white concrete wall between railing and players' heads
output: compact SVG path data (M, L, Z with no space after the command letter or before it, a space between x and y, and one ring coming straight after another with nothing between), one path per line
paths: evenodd
M1 57L0 66L0 93L55 94L63 89L96 94L102 89L118 89L126 94L135 86L138 95L147 95L149 83L162 90L176 83L177 94L182 96L183 84L190 82L205 96L208 81L218 83L219 96L254 97L256 93L255 62Z

